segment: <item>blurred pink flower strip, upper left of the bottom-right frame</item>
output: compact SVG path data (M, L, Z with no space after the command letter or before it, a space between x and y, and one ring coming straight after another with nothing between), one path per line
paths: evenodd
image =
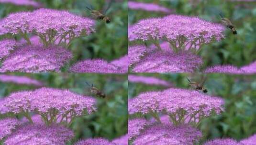
M163 85L163 86L171 86L171 84L167 81L158 79L156 77L150 77L150 76L137 76L137 75L128 75L128 81L132 83L145 83L145 84L151 84L151 85Z

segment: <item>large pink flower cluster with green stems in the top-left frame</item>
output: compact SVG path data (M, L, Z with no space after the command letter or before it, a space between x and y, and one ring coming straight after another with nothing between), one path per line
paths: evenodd
M33 12L12 13L0 21L0 28L11 34L21 34L26 41L28 33L35 32L43 43L71 41L94 31L94 21L65 10L39 9Z

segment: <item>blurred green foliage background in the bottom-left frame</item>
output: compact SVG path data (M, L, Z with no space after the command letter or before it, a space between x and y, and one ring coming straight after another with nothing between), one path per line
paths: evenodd
M89 137L104 137L109 140L127 134L127 75L98 73L5 73L28 76L44 83L46 87L69 89L90 95L89 86L106 93L106 98L97 97L98 111L77 118L71 125L75 133L72 142ZM36 89L35 86L0 82L0 98L15 91ZM0 115L0 118L3 116Z

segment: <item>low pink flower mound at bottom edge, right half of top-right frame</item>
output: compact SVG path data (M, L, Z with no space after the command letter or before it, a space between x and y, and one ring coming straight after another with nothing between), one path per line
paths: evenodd
M216 65L207 68L204 73L243 73L243 71L233 65Z

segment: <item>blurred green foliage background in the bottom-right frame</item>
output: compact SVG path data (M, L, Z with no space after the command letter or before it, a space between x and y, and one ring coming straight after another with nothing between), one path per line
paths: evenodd
M177 88L190 89L187 78L200 82L201 73L133 73L155 76L168 81ZM225 100L225 111L202 121L201 142L217 137L232 137L236 140L256 134L256 75L231 75L207 73L205 87L209 95ZM159 91L166 87L129 82L129 98L146 91Z

